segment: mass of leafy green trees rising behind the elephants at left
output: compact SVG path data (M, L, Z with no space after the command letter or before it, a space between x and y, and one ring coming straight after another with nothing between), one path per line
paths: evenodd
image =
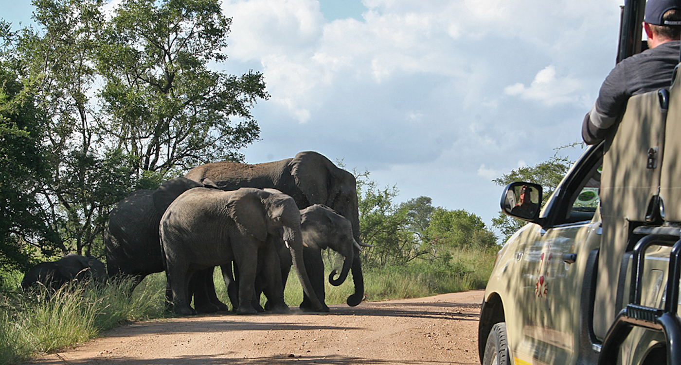
M208 68L227 57L219 1L126 0L107 16L104 4L35 0L36 28L0 22L0 148L11 151L0 157L21 167L3 175L16 214L0 222L11 236L0 237L0 268L25 268L30 245L41 259L100 256L108 214L129 192L239 160L258 137L262 74Z

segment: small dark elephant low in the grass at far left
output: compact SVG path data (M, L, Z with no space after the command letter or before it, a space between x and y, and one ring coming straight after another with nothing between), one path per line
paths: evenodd
M41 262L33 266L21 281L21 288L29 291L44 285L50 291L59 290L71 281L106 282L106 267L93 256L87 257L68 254L53 262Z

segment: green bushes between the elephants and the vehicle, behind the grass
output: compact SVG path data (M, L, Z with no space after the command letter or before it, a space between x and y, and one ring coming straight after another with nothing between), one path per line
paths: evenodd
M364 266L403 266L413 260L448 260L453 251L496 246L496 237L475 214L432 207L427 196L393 203L397 190L379 188L368 172L355 172L360 238L373 245L362 254Z

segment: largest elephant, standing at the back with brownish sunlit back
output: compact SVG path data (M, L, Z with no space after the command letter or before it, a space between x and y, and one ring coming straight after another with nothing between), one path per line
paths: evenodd
M215 184L222 190L242 187L274 188L294 198L298 209L304 209L313 204L326 205L350 221L353 237L362 245L355 177L339 169L328 158L317 152L300 152L294 158L262 164L212 162L191 169L185 177L194 181L208 178L215 181ZM315 259L314 262L306 262L306 265L308 265L306 271L313 281L313 286L323 287L323 263ZM359 249L353 252L351 271L355 292L347 298L347 304L354 307L364 298L364 277ZM340 277L345 279L347 272L341 271ZM340 285L338 281L332 283ZM323 292L317 292L317 296L320 302L324 301ZM310 298L304 298L300 308L314 310ZM325 308L328 307L325 305Z

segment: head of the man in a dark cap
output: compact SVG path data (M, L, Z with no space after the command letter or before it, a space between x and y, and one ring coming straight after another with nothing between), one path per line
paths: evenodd
M648 46L654 48L680 38L681 0L648 0L644 29Z

